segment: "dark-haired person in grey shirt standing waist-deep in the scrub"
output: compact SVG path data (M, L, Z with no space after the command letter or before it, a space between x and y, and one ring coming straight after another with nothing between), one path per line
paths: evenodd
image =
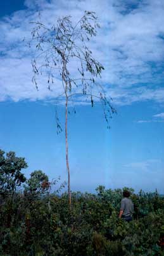
M123 218L127 222L132 220L132 214L134 212L134 204L129 199L130 192L128 190L123 191L123 199L121 201L119 218Z

